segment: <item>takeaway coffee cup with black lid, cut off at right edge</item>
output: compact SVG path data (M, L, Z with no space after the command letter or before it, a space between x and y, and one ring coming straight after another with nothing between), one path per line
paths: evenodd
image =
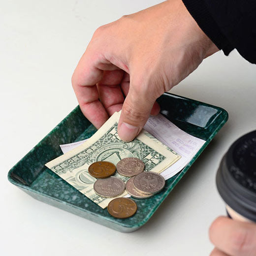
M221 161L216 183L230 218L256 222L256 130L230 146Z

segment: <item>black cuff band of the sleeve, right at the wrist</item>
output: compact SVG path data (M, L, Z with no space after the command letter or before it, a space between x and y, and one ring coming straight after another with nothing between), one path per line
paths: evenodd
M209 12L204 0L182 0L193 19L213 43L228 55L234 47L220 31L217 23Z

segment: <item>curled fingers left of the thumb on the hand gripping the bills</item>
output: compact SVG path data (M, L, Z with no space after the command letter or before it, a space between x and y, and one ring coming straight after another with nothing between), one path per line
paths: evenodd
M107 121L109 114L122 108L124 96L117 86L122 77L123 71L119 67L90 49L79 61L72 76L72 86L81 111L96 128Z

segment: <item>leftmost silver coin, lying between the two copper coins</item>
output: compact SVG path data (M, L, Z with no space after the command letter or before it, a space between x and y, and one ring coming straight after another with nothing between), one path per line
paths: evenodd
M98 179L94 183L95 192L103 197L115 197L125 191L125 183L117 177Z

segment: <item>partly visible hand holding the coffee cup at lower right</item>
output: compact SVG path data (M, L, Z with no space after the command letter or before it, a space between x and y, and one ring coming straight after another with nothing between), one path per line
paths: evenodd
M211 256L256 256L256 224L219 217L209 236L216 246Z

